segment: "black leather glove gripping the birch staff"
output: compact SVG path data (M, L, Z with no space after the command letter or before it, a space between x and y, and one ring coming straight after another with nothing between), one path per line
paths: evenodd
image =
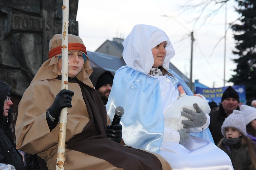
M60 90L59 93L56 95L55 100L50 108L48 108L49 114L55 118L59 119L60 112L63 108L72 107L71 100L74 95L73 91L70 90Z

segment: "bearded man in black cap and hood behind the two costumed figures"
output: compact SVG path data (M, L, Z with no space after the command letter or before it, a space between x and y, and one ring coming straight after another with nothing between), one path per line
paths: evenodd
M109 99L114 76L110 71L101 67L93 67L92 69L93 73L90 75L90 80L98 91L104 105L106 105Z

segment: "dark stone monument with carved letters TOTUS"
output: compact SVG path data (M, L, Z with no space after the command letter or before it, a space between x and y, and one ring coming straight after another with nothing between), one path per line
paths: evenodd
M78 0L69 3L69 33L78 35ZM0 0L0 80L12 87L13 134L19 101L48 59L49 40L62 33L62 5L63 0Z

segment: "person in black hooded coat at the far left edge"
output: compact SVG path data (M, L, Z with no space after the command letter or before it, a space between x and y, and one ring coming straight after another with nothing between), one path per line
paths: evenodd
M24 153L20 154L15 147L15 143L10 129L11 115L10 106L13 105L10 97L11 87L0 81L0 163L10 164L18 170L24 170Z

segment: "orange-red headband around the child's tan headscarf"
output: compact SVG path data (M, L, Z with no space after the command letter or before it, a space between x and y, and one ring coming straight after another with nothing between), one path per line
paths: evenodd
M86 47L81 43L70 43L68 45L68 48L69 48L69 50L83 51L85 54L87 54ZM61 46L55 47L54 49L49 51L49 53L48 53L49 59L59 53L61 53Z

